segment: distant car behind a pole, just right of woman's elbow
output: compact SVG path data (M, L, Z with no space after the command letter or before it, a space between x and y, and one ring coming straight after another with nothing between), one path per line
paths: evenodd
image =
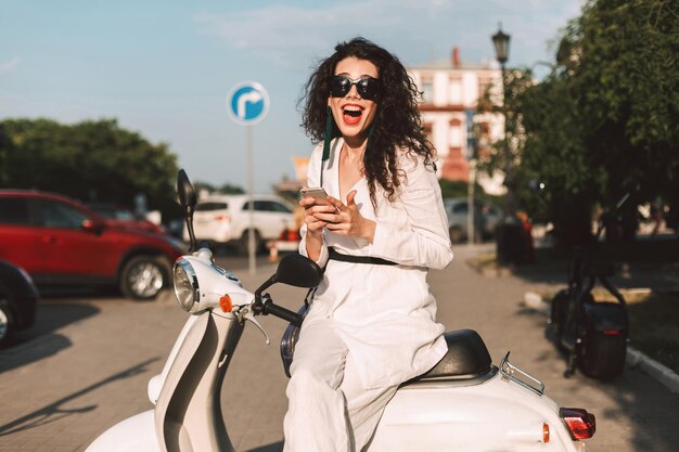
M465 197L444 199L448 231L452 243L460 243L469 236L469 201ZM478 199L474 203L474 240L489 240L502 219L500 209Z

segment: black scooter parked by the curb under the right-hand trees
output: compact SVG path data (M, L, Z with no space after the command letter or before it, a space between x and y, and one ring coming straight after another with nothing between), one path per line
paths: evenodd
M590 377L611 379L625 369L629 322L627 304L619 290L608 281L614 275L613 263L594 258L599 241L611 224L616 224L618 212L628 203L631 192L617 203L612 212L604 212L597 225L594 244L590 249L575 250L568 271L568 287L552 300L549 327L554 341L567 353L566 377L576 367ZM606 232L607 234L607 232ZM592 290L601 283L616 301L598 301Z

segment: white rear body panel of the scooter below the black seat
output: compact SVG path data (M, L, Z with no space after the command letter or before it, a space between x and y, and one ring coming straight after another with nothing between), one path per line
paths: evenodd
M545 441L543 425L549 425ZM422 382L400 388L387 404L370 452L567 451L573 441L553 400L505 380L477 385Z

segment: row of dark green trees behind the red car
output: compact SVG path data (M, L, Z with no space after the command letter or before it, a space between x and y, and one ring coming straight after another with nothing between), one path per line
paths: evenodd
M177 157L115 119L72 126L49 119L0 122L0 186L62 193L81 201L148 207L164 219L179 216L175 202Z

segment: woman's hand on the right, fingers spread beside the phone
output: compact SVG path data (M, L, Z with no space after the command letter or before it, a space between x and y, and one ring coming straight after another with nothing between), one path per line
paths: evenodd
M346 206L332 196L328 196L328 199L332 204L332 208L336 211L326 212L319 211L313 214L313 217L321 222L324 222L324 227L329 231L335 234L346 235L349 237L361 237L372 243L375 236L375 222L366 219L359 211L355 202L356 190L353 190L347 194Z

